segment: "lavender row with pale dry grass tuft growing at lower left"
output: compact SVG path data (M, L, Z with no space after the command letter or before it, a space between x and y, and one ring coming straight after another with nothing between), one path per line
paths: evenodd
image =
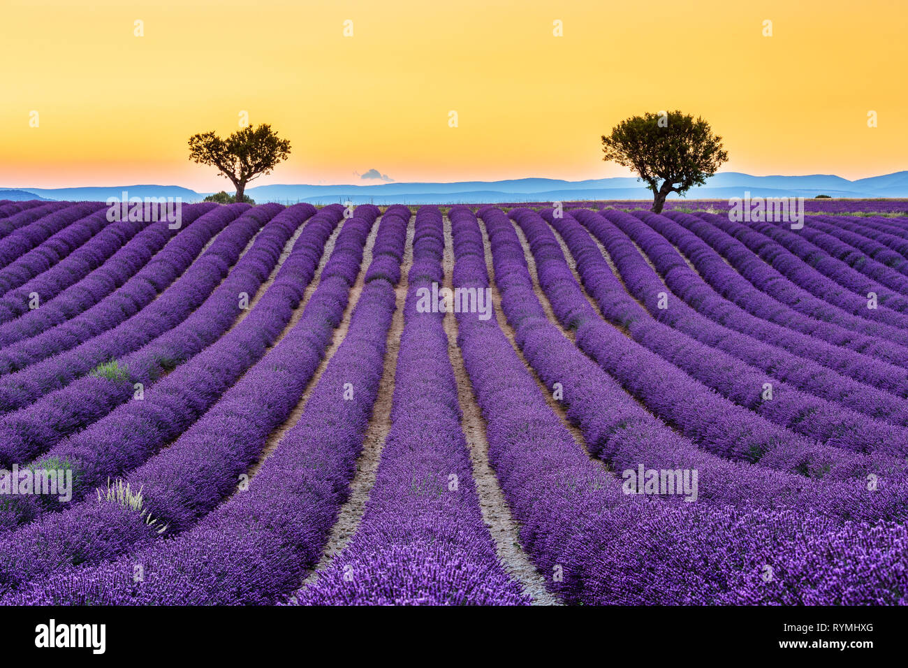
M340 211L339 204L331 205L330 215ZM179 533L189 524L188 519L180 523L180 516L202 516L234 491L240 474L261 453L268 434L290 414L318 366L359 273L369 227L362 218L343 225L319 287L291 333L175 443L126 477L133 490L144 487L145 507L132 513L132 527L105 539L104 522L112 513L104 507L110 504L107 500L89 499L63 513L47 514L3 538L8 547L0 557L0 592L54 573L60 564L87 567L139 549L165 525L167 536ZM326 319L333 324L326 326ZM163 512L168 522L154 514L158 521L148 526L149 506ZM56 538L66 535L62 533L66 527L78 527L76 540Z

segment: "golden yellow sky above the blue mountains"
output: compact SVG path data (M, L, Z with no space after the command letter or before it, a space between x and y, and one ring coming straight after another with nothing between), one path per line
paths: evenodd
M725 171L885 174L908 167L905 25L904 0L3 0L0 186L226 188L186 140L242 111L293 145L252 185L627 175L599 136L675 108Z

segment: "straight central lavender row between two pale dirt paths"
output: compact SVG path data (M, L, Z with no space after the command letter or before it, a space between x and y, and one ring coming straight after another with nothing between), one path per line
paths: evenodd
M423 206L416 214L391 428L375 484L350 543L297 593L297 603L528 603L498 562L479 512L444 314L417 306L420 291L444 281L443 251L441 215Z

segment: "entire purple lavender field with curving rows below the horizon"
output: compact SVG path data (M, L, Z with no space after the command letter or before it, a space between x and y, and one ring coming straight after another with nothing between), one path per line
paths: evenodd
M0 201L0 603L908 603L908 201Z

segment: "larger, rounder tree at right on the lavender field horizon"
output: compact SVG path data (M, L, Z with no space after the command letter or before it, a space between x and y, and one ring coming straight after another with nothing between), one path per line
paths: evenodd
M722 137L702 118L679 111L633 116L602 135L606 162L630 167L653 191L653 212L662 211L669 193L686 193L706 183L728 160Z

